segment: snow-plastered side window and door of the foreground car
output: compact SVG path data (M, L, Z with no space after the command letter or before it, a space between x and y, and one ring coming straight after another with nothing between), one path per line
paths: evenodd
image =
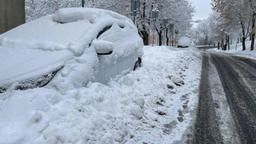
M121 72L132 70L134 58L130 55L122 56L122 43L126 41L123 31L116 23L112 26L103 28L96 37L99 40L105 40L114 43L113 53L110 55L98 55L99 65L96 68L95 82L107 84L110 78L115 78Z

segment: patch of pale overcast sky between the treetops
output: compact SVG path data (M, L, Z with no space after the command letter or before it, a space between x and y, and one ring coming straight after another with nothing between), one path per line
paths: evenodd
M189 0L192 5L195 6L196 13L194 14L193 20L203 20L209 17L211 10L211 0Z

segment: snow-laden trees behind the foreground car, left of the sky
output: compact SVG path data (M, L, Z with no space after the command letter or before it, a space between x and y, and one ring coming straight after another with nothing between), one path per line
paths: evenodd
M53 14L60 8L81 7L82 0L25 0L26 21L35 20L47 14ZM133 20L131 13L131 1L127 0L85 0L84 7L93 7L117 12ZM144 44L148 45L149 35L153 29L151 22L152 10L158 9L159 19L156 23L156 31L161 39L163 33L163 18L170 18L175 29L179 30L179 36L189 33L194 7L188 0L140 0L140 12L136 16L136 23ZM168 29L167 29L168 31ZM167 40L168 37L167 35Z

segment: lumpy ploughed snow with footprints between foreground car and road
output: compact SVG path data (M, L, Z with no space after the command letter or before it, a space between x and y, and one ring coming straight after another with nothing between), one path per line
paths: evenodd
M196 115L201 55L195 48L144 46L143 51L142 67L109 86L90 83L64 94L46 88L0 94L0 143L185 139ZM176 86L180 78L185 84Z

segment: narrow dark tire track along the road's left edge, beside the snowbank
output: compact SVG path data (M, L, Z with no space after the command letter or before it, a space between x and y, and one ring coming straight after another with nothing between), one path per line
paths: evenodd
M194 126L195 144L223 143L210 90L208 55L208 53L202 54L203 63L199 85L199 103Z

